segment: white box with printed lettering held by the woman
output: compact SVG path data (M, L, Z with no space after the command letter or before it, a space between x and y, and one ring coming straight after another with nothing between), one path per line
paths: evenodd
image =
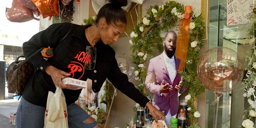
M71 89L71 90L86 88L86 81L84 80L78 80L78 79L68 77L68 78L62 79L62 83L70 85L70 87L68 87L67 89Z

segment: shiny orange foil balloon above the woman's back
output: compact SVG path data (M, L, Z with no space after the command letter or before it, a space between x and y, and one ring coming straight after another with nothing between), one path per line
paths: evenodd
M52 16L60 16L58 12L59 0L32 0L32 2L36 4L43 18L49 16L51 19Z

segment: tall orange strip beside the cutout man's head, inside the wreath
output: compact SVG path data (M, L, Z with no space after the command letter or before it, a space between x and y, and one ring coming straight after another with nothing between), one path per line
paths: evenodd
M186 63L186 56L188 52L188 40L189 40L189 24L191 18L180 20L178 37L177 37L177 46L175 55L180 58L180 66L178 72L181 71Z

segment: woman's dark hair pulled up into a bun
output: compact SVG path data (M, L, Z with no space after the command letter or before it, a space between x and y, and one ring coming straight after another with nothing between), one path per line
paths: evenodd
M114 24L117 27L121 27L120 24L117 24L118 21L126 24L126 16L122 10L122 6L127 5L127 0L108 0L110 3L102 6L97 14L96 25L100 18L105 18L108 25Z

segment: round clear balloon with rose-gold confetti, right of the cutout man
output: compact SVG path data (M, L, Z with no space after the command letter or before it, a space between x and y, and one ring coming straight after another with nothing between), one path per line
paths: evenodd
M241 58L234 50L215 47L202 54L197 65L197 76L206 89L218 94L240 84L243 67Z

